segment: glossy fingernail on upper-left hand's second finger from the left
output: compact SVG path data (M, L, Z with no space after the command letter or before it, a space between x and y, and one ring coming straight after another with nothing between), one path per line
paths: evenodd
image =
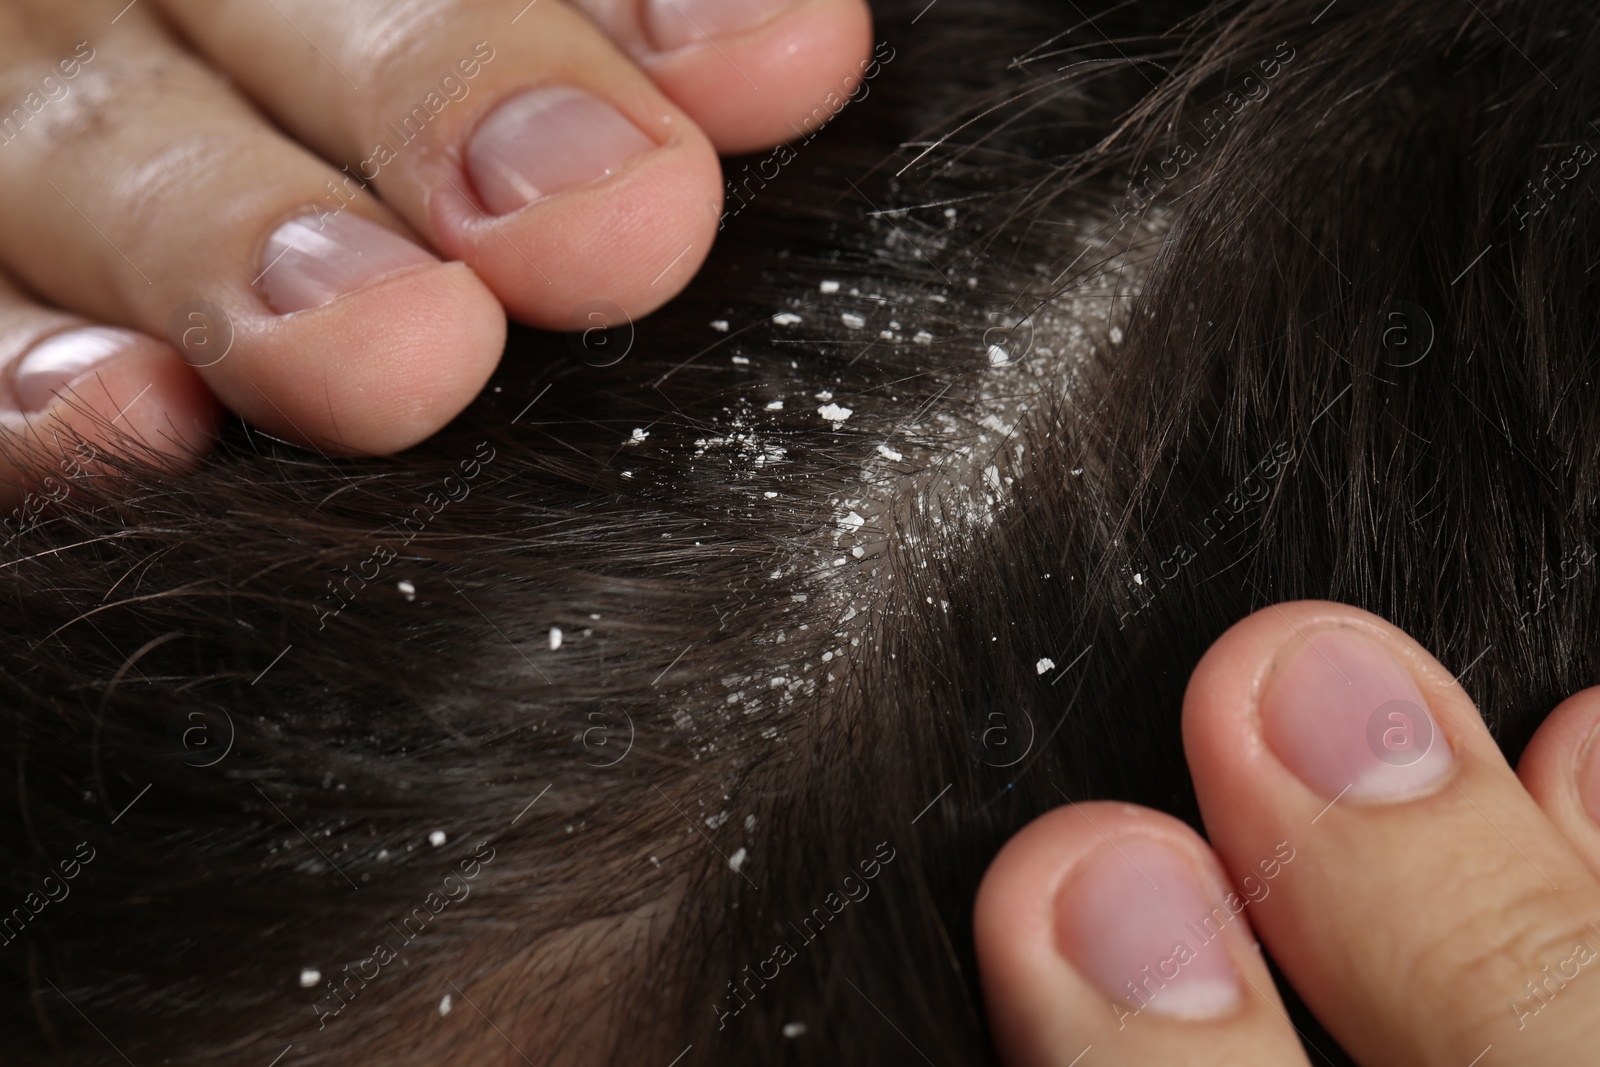
M438 262L438 256L358 214L304 214L267 238L256 283L267 307L288 315L424 262Z

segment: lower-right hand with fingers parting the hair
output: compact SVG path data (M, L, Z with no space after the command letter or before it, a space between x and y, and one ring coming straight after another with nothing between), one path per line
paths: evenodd
M1514 773L1416 641L1301 601L1211 646L1182 729L1211 846L1083 803L990 865L978 955L1011 1067L1306 1064L1254 936L1360 1064L1594 1061L1600 689Z

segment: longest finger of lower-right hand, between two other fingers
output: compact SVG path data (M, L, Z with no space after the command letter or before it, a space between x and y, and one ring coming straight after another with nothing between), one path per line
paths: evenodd
M1184 747L1256 931L1362 1064L1541 1067L1592 1040L1600 981L1570 979L1600 961L1600 885L1416 641L1344 605L1259 611L1195 669Z

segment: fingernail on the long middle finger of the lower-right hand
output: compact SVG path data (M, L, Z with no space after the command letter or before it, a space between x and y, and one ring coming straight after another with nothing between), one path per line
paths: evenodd
M1454 766L1411 672L1350 629L1296 637L1261 699L1267 747L1334 800L1398 800Z

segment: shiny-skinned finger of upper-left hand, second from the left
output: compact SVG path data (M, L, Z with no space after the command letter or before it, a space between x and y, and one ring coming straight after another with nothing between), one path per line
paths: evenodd
M0 213L0 259L51 302L150 336L200 307L232 334L197 360L206 384L278 437L392 451L443 426L499 358L493 294L366 194L315 216L336 171L144 8L110 26L117 6L0 8L5 98L59 88L0 149L0 186L26 205Z

